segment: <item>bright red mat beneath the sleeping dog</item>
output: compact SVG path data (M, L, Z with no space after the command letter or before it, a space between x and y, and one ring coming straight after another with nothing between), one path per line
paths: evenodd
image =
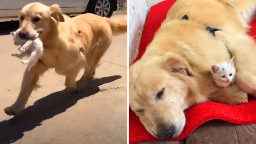
M152 41L156 30L160 27L161 22L165 19L169 8L174 2L175 0L166 0L151 7L142 33L139 54L136 60L139 60L145 52L147 45ZM251 27L249 35L255 36L256 20L251 22ZM181 135L168 140L184 139L198 126L212 119L222 119L241 125L256 123L256 99L250 98L249 103L241 105L227 105L217 102L201 103L186 110L185 115L186 125ZM129 144L148 140L158 139L149 134L140 123L139 118L129 110Z

